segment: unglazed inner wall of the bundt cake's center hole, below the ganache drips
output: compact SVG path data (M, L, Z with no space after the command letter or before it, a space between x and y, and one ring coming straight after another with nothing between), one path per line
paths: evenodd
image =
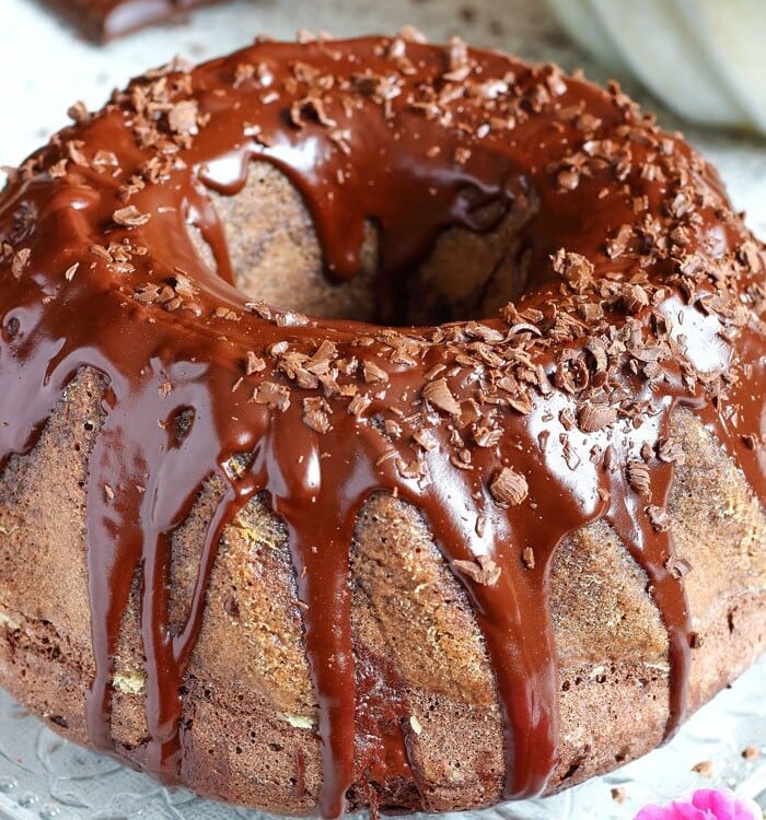
M323 272L322 249L300 194L274 166L254 163L239 194L209 196L235 284L251 301L321 318L438 325L496 316L523 291L525 256L511 216L489 233L445 231L420 266L391 278L378 273L379 233L368 223L359 272L335 283ZM201 233L190 232L199 254L216 269Z

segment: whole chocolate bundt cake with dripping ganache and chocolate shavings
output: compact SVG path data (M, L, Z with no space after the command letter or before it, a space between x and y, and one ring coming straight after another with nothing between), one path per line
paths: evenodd
M280 812L636 758L766 643L766 253L616 85L258 42L0 197L0 683Z

